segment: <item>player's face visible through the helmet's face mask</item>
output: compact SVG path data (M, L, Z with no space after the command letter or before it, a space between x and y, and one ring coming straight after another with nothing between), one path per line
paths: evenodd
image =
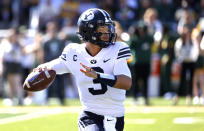
M108 41L109 40L109 29L108 26L99 26L96 30L96 32L100 32L102 33L102 35L100 36L100 39L103 41Z

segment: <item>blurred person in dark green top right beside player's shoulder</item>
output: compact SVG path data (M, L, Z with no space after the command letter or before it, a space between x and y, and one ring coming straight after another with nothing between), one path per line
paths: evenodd
M149 105L148 100L148 77L150 75L151 46L153 37L147 32L147 25L140 21L135 25L135 34L129 41L131 50L135 52L135 90L134 98L137 102L140 93L145 98L145 104Z

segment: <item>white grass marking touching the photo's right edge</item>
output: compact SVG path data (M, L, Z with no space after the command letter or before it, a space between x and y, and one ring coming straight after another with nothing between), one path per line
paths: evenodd
M195 124L204 123L204 117L179 117L173 120L175 124Z

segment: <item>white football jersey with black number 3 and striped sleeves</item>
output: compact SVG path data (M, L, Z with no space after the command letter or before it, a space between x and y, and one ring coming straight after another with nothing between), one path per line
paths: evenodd
M94 82L93 78L80 71L83 69L80 63L100 73L131 77L126 61L130 57L128 45L116 42L102 48L96 56L91 56L85 46L75 43L67 45L52 67L57 74L72 73L75 76L83 110L99 115L124 116L126 91Z

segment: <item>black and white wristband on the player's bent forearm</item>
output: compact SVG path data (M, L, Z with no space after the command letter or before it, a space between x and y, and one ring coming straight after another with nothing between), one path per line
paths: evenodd
M114 87L116 81L117 81L117 76L110 75L110 74L104 74L104 73L97 73L97 78L94 79L95 82L100 82L105 85Z

